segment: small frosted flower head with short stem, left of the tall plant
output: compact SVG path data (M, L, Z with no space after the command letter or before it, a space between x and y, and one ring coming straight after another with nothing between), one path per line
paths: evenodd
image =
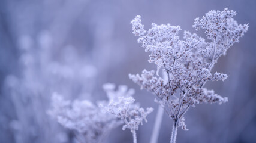
M145 111L140 105L135 104L135 99L132 97L134 90L128 90L127 86L119 86L116 91L113 84L106 84L103 87L109 98L108 104L105 107L102 105L104 110L124 121L122 129L130 129L133 142L137 143L136 130L140 124L142 125L143 120L147 122L146 116L153 111L153 108L147 108Z

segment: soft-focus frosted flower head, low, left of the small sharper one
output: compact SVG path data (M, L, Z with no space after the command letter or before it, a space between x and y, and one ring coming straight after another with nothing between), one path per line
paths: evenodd
M122 123L88 100L70 102L53 94L52 107L49 114L62 126L73 130L79 142L102 142L111 129Z

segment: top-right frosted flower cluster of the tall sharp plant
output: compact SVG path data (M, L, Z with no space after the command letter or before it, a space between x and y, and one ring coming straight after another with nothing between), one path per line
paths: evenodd
M196 30L204 29L207 38L213 41L211 45L216 46L213 60L225 55L227 49L239 42L239 38L248 31L248 24L237 24L233 19L235 15L236 12L225 8L223 11L209 11L201 19L195 18L193 27Z

